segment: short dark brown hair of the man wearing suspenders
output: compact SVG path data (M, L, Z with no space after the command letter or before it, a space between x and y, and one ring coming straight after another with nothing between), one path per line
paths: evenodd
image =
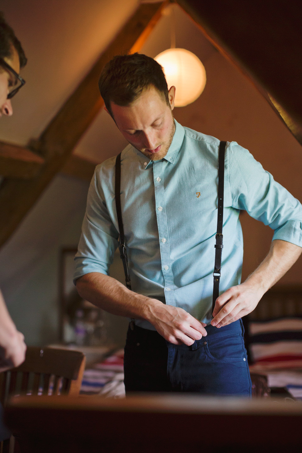
M117 55L105 65L99 78L101 96L111 116L110 101L118 106L128 106L150 85L170 105L163 68L153 58L142 53Z

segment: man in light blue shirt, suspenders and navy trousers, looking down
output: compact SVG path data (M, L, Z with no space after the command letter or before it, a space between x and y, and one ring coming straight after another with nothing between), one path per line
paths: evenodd
M133 292L108 275L118 244L115 158L96 167L75 280L81 296L135 319L125 387L251 395L243 328L263 294L302 249L302 206L246 149L225 154L224 249L213 319L219 140L173 119L175 87L145 55L118 56L99 80L106 110L129 145L121 154L121 207ZM271 249L240 284L241 209L274 230Z

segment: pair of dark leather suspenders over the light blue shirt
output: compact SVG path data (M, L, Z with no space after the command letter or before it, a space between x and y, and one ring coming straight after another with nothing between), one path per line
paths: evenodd
M214 266L214 285L213 285L213 304L212 311L214 310L215 301L219 296L219 282L221 275L221 253L222 253L222 224L223 224L223 189L224 189L224 178L225 178L225 141L221 141L219 145L219 163L218 163L218 214L217 214L217 233L216 233L216 244L215 244L215 266ZM124 226L122 219L122 210L120 207L120 155L116 156L115 161L115 206L117 221L119 224L120 231L120 257L123 261L125 280L127 288L131 289L129 268L128 268L128 257L125 246L125 235Z

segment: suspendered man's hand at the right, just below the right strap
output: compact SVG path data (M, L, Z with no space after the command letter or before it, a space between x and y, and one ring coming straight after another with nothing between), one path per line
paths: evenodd
M211 325L219 328L234 323L252 312L263 294L262 290L255 289L249 284L249 280L232 286L216 299Z

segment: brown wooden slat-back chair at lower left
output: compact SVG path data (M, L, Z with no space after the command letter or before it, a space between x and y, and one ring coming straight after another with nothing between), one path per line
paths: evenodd
M80 392L85 362L82 352L29 346L20 366L0 373L0 401L5 406L8 398L15 395L76 396ZM12 438L3 441L0 452L18 451L12 443Z

